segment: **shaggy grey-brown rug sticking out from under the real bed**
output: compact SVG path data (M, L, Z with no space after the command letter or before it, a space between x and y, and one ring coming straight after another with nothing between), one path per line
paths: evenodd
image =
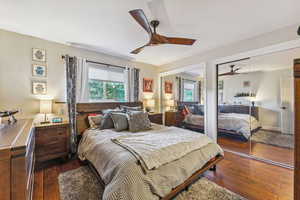
M61 200L101 200L104 187L89 167L61 173L58 177ZM245 198L201 178L174 200L245 200Z

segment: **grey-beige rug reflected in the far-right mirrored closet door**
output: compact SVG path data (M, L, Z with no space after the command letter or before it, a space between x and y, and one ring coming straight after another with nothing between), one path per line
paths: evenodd
M294 148L294 135L260 130L253 134L251 141L284 148Z

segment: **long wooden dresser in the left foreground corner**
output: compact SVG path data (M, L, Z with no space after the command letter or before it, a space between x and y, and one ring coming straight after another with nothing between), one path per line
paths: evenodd
M0 129L1 200L32 199L34 146L32 120L19 120Z

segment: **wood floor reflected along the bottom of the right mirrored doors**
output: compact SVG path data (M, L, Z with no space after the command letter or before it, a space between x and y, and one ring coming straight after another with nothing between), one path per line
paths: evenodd
M225 149L254 155L258 158L294 166L294 150L257 142L242 142L231 138L219 137L218 144Z

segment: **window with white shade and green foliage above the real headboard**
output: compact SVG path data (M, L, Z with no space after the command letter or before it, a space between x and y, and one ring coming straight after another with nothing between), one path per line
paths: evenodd
M90 101L126 101L125 71L122 68L89 64Z

